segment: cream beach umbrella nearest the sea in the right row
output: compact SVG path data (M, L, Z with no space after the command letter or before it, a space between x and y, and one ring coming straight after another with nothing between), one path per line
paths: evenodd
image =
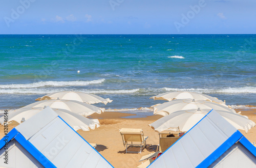
M219 100L216 97L211 97L205 94L195 92L165 92L157 96L153 96L150 99L154 100L167 100L172 101L176 99L195 99L195 100L207 100L215 103L226 104L224 101Z

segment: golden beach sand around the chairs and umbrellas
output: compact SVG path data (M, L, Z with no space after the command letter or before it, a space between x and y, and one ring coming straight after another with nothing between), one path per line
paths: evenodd
M250 120L256 122L256 109L237 109L236 111L242 111L242 115L248 116ZM114 167L136 167L141 164L139 159L142 156L156 151L153 150L153 148L157 148L159 141L158 133L149 127L148 124L161 118L161 116L155 115L146 118L132 119L123 118L127 116L133 115L117 112L105 112L100 115L94 114L90 116L90 118L99 119L100 127L91 131L77 131L87 142L96 143L96 150ZM8 125L8 131L15 127L16 124ZM146 143L152 144L153 146L144 148L141 154L125 153L125 147L123 146L122 138L119 133L119 129L121 128L142 128L144 134L149 136ZM256 142L256 127L250 129L247 134L245 131L240 131L251 143ZM2 138L3 136L4 127L1 126L0 137Z

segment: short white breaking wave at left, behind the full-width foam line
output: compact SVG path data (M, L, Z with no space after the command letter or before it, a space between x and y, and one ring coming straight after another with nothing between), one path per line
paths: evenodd
M0 85L0 89L23 89L40 87L65 87L65 86L87 86L104 82L105 79L87 80L87 81L39 81L25 84Z

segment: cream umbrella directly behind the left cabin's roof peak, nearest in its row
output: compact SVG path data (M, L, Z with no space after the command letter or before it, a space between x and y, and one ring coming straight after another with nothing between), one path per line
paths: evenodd
M45 108L45 107L44 107ZM39 113L44 108L34 107L34 108L19 108L8 114L8 121L16 121L21 123L23 119L28 120L32 116ZM89 131L90 129L95 129L99 127L99 121L97 119L88 119L81 115L72 113L69 110L52 108L60 118L67 122L75 131L82 129L83 131ZM0 118L0 123L4 123L4 117Z

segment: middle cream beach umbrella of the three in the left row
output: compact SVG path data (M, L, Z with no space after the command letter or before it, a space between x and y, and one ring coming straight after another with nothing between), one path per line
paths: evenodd
M80 114L83 116L90 116L94 113L101 114L105 111L105 108L99 108L91 104L82 103L75 100L42 100L32 104L29 104L23 108L34 108L49 106L51 108L66 109L72 113Z

